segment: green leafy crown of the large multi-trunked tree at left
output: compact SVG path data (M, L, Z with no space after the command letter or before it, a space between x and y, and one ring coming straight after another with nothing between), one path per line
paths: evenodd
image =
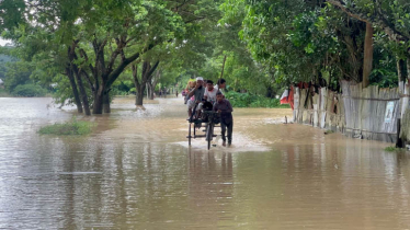
M38 64L41 71L33 79L44 85L58 83L56 97L61 104L73 101L72 92L64 89L70 88L67 81L57 82L54 77L65 72L68 64L90 76L84 80L90 101L95 95L93 85L100 88L96 92L127 93L130 85L114 83L134 62L162 64L170 57L183 57L190 65L200 66L196 60L203 55L198 53L206 47L197 44L204 42L202 33L214 26L210 23L219 13L214 0L9 3L0 2L4 7L1 28L7 30L2 36L19 46L20 58Z

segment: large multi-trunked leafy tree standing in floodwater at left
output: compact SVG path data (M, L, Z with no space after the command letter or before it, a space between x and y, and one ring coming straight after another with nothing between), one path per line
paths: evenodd
M26 46L27 59L38 50L54 49L54 55L66 50L64 69L70 69L66 73L76 78L70 81L76 102L79 88L87 111L84 92L90 88L93 113L101 114L103 108L110 113L111 88L129 65L156 46L182 43L185 32L190 36L197 34L201 26L195 22L206 21L215 3L210 0L45 0L7 7L2 23L9 28L7 36ZM15 18L14 11L27 16ZM36 43L29 43L32 36Z

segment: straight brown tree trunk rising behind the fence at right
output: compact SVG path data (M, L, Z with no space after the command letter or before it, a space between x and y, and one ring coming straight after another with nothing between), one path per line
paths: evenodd
M366 37L364 42L364 60L363 60L363 88L368 87L368 77L373 69L373 25L372 23L366 23Z

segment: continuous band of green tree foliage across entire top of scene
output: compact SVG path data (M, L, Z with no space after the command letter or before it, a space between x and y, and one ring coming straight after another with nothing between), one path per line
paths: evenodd
M376 28L373 84L397 85L395 60L406 59L410 47L407 1L339 1L344 10L372 21ZM61 76L67 64L88 73L83 81L90 102L93 90L99 91L93 88L101 87L101 82L105 93L135 93L129 65L138 62L138 78L143 81L143 62L157 60L159 74L147 83L167 88L178 83L184 89L194 76L216 82L226 57L224 78L228 90L260 97L247 106L273 103L263 101L264 96L272 97L293 82L337 88L340 79L362 80L365 23L331 2L0 2L2 36L19 47L13 55L30 61L5 66L1 62L4 56L0 56L0 78L3 74L10 91L25 83L43 88L57 83L55 96L61 104L73 101L70 83ZM69 47L75 57L67 55Z

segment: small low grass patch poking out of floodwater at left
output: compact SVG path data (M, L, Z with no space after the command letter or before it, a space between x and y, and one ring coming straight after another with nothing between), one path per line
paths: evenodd
M67 135L88 135L92 131L93 124L90 122L77 120L76 117L72 117L71 120L66 123L56 123L54 125L48 125L42 127L38 130L41 135L58 135L58 136L67 136Z

